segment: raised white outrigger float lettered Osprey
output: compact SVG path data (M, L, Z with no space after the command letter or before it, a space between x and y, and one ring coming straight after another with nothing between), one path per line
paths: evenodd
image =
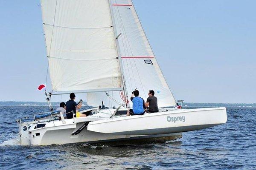
M177 109L90 122L88 130L108 134L155 135L199 130L225 122L226 108Z

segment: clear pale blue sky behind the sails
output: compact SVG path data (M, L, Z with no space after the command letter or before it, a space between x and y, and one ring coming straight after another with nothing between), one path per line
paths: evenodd
M256 102L255 0L133 3L175 99ZM0 16L0 101L44 102L36 90L47 74L40 0L0 0Z

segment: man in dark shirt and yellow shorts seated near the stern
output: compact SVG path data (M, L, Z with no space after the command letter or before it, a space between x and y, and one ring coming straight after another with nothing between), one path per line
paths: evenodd
M70 93L70 100L66 102L67 119L72 119L73 114L75 117L86 117L85 114L79 113L78 111L76 111L76 109L80 109L82 107L82 103L79 102L79 104L77 105L76 102L74 101L75 99L76 99L76 95L74 93Z

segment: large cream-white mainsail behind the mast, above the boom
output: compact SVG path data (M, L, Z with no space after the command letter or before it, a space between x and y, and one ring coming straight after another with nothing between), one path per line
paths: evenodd
M41 0L53 91L121 89L108 0Z

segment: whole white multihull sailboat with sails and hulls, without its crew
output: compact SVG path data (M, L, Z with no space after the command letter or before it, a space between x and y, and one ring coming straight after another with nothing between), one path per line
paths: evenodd
M160 142L227 122L226 108L175 100L131 0L41 0L52 91L50 112L18 119L20 144ZM126 116L134 89L156 91L159 112ZM87 117L64 119L51 97L84 93ZM102 107L98 107L102 105Z

